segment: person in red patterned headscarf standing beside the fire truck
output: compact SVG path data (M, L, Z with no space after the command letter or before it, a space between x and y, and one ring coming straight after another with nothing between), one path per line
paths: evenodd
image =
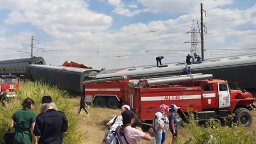
M164 128L163 128L162 140L161 140L161 144L163 144L165 141L166 132L169 129L169 119L167 117L169 113L169 106L162 104L159 106L159 111L163 114L163 117L164 117Z

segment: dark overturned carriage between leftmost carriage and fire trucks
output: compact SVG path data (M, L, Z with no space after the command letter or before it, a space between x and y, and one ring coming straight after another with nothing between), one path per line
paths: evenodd
M84 68L70 68L48 65L29 65L28 77L57 85L61 89L82 93L82 82L95 77L99 71Z

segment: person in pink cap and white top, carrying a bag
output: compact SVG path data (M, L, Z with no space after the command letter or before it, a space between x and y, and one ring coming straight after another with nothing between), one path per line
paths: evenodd
M114 133L112 133L113 131L116 131L116 128L118 126L123 125L123 117L122 114L127 111L127 110L131 110L129 105L123 105L121 107L121 115L120 116L115 116L113 117L110 121L108 121L107 123L107 131L105 133L104 139L102 141L102 144L109 144L110 138L112 137L112 135Z

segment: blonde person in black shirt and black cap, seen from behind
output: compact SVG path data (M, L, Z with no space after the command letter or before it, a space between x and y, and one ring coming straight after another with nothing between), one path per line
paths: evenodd
M51 96L42 98L40 112L33 132L39 138L38 144L62 144L63 135L68 130L65 114L57 110Z

